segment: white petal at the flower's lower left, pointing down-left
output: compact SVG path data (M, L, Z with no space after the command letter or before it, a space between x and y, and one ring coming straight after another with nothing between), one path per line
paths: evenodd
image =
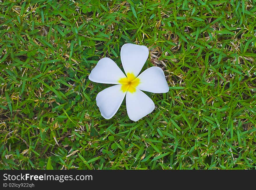
M105 119L110 119L115 115L125 98L125 92L121 91L121 86L121 84L111 86L96 96L97 106Z

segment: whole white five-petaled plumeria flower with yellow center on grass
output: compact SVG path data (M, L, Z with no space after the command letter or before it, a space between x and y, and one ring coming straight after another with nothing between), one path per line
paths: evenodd
M142 91L166 93L169 91L163 70L160 67L141 69L148 57L148 48L136 44L124 44L121 48L121 61L125 74L115 62L104 57L91 71L89 79L104 84L117 84L99 92L96 103L101 115L110 119L118 111L126 96L126 108L129 118L138 121L151 113L154 102Z

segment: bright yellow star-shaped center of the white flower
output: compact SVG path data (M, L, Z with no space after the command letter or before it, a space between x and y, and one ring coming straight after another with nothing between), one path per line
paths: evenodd
M129 91L134 93L136 91L136 86L140 83L140 79L136 78L133 73L127 73L127 77L120 78L118 81L122 84L121 90L123 92Z

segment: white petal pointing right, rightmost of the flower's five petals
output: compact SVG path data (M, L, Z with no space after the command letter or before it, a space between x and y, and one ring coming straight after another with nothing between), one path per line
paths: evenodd
M152 93L166 93L169 91L169 86L160 67L150 67L137 78L140 79L140 83L136 88L142 91Z

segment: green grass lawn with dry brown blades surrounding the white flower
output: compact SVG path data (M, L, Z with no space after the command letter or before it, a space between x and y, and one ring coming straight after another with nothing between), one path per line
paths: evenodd
M0 169L256 169L255 0L0 2ZM88 80L125 43L170 87L138 122Z

